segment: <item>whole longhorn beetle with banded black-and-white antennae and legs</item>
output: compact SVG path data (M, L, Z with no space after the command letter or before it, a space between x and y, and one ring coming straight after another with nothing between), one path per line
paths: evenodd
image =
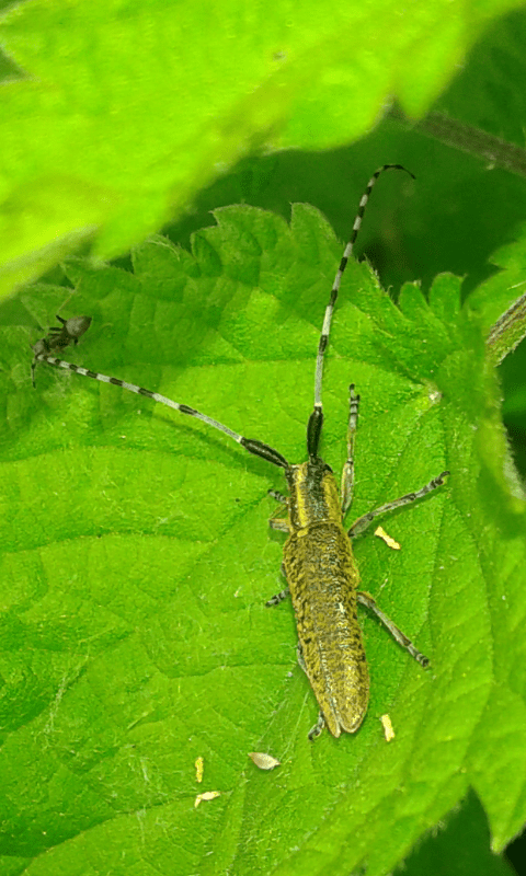
M285 532L288 537L283 549L283 570L288 587L270 599L266 604L277 604L288 593L293 599L298 631L298 660L309 679L320 707L318 722L309 733L310 739L318 736L325 724L335 737L339 737L342 731L355 733L367 711L369 679L357 620L357 602L373 611L396 641L407 648L421 666L426 667L428 664L427 657L424 657L384 614L373 597L357 589L359 575L351 539L364 532L379 515L400 508L402 505L409 505L442 486L449 472L442 472L415 493L409 493L369 511L358 518L348 531L345 531L344 518L353 499L354 442L359 403L359 395L355 393L354 384L351 384L350 388L347 459L342 473L341 497L332 469L327 462L323 462L319 453L323 424L321 402L323 357L329 339L332 313L342 275L353 252L371 188L380 173L390 169L405 170L401 164L385 164L370 177L359 201L351 239L345 246L325 308L316 361L315 406L307 425L307 462L291 464L277 450L263 441L245 438L218 423L217 419L213 419L186 404L173 402L158 392L151 392L142 387L127 383L125 380L56 359L48 355L45 347L42 348L42 341L33 347L35 364L47 362L47 365L66 368L83 377L91 377L93 380L113 383L129 392L146 395L181 414L201 419L211 428L228 435L249 453L261 457L284 470L289 496L285 497L275 491L270 491L270 493L277 502L286 506L287 518L274 516L270 520L270 526ZM407 173L410 172L407 171ZM413 176L411 173L410 175ZM82 328L85 331L89 318L73 319L78 321L77 325L85 326ZM71 320L65 323L65 328L69 323ZM56 346L60 345L57 343Z

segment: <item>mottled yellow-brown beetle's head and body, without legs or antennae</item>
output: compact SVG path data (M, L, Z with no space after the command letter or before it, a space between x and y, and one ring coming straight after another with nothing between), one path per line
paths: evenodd
M358 568L336 482L322 460L291 465L286 474L283 565L302 664L332 735L354 733L367 711L369 673L357 618Z

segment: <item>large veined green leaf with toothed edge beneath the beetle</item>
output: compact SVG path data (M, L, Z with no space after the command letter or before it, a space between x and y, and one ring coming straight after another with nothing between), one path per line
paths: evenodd
M305 459L313 365L341 245L312 208L290 228L217 211L193 255L161 238L134 274L68 265L71 360L194 405ZM64 299L25 298L32 313ZM363 616L371 700L356 736L307 731L283 537L283 477L188 417L46 366L2 332L0 852L4 873L381 876L472 786L495 850L526 817L524 502L507 474L483 318L459 280L395 307L350 263L327 362L323 453L345 458L362 395L353 517L444 469L437 494L355 545L364 589L431 657ZM380 715L396 739L386 742ZM258 771L249 751L282 761ZM202 785L195 759L205 759ZM217 799L194 808L204 791Z

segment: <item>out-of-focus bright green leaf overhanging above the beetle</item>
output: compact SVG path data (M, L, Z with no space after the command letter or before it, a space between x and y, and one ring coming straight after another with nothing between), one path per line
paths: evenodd
M517 0L32 0L0 21L1 286L157 231L240 155L423 114Z

